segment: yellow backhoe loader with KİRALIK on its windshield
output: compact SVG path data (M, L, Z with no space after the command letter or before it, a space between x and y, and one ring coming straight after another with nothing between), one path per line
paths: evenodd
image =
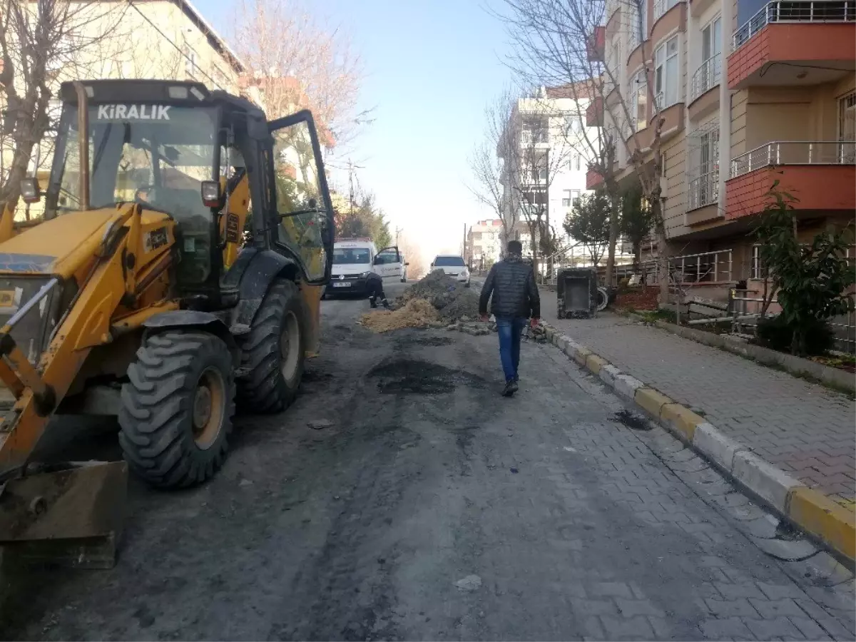
M168 80L64 83L61 98L47 187L21 186L44 218L0 218L0 380L15 398L0 544L104 568L128 469L199 484L223 465L236 404L294 399L334 226L308 111L268 122L244 98ZM33 461L57 413L116 414L124 461Z

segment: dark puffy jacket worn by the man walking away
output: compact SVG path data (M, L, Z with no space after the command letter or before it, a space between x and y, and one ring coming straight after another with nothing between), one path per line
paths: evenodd
M495 317L540 318L541 297L535 285L532 265L518 257L508 257L490 268L479 298L479 312L487 314L487 302Z

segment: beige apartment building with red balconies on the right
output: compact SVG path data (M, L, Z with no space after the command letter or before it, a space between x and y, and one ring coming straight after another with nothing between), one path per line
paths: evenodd
M651 163L653 97L663 120L669 251L685 281L721 285L723 293L742 281L757 287L750 233L774 181L799 199L794 207L806 238L853 217L853 43L850 1L606 4L603 60L617 86L605 97L605 126ZM630 122L617 108L622 99ZM638 180L627 152L619 146L621 180ZM593 187L599 177L588 179Z

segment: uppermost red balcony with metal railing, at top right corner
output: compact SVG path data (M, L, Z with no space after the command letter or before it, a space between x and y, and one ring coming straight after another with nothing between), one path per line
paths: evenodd
M767 3L732 35L728 88L838 80L856 70L854 26L856 0Z

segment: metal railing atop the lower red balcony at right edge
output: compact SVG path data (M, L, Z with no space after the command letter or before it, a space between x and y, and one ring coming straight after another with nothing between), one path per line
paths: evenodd
M856 165L856 141L774 141L732 159L729 176L774 165Z

